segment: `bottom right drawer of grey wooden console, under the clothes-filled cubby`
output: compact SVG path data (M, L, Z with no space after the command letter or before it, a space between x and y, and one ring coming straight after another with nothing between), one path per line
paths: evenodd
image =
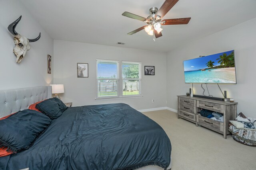
M215 120L209 119L207 117L198 115L197 122L198 122L198 125L207 127L208 129L223 132L223 123L220 121L215 121Z

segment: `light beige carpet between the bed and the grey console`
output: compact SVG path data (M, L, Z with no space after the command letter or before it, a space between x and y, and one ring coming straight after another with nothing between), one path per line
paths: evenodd
M144 112L172 143L172 170L256 170L256 147L242 145L169 110Z

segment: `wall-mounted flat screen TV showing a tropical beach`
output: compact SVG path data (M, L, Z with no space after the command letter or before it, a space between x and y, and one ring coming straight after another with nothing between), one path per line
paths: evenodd
M236 84L234 50L183 61L185 83Z

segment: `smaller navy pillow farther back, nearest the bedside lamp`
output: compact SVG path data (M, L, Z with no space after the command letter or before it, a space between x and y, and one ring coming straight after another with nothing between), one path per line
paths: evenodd
M50 119L56 119L68 108L60 99L50 98L36 105L36 108Z

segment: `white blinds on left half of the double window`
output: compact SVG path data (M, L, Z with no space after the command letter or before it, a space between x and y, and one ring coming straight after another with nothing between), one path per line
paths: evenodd
M96 60L97 98L119 97L119 61Z

